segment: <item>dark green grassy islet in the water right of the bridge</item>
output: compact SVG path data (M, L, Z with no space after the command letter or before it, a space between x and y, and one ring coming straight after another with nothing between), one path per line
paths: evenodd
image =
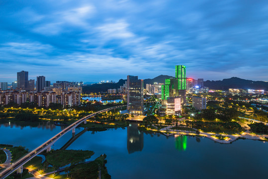
M63 167L68 164L74 164L85 159L89 159L94 154L93 151L80 150L56 150L46 154L46 160L53 167Z

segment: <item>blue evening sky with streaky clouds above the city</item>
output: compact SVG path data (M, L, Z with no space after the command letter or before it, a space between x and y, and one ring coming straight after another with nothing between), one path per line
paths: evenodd
M267 0L0 0L0 81L268 81Z

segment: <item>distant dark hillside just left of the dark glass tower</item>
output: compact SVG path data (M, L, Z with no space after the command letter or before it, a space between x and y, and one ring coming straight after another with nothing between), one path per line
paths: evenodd
M104 83L104 84L93 84L93 85L87 85L83 86L83 92L90 93L90 92L107 92L108 89L118 89L120 86L123 86L125 84L126 80L119 80L119 82L111 84L111 83Z

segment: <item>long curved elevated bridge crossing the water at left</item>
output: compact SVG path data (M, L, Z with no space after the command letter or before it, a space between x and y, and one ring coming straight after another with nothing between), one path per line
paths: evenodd
M46 141L45 143L43 143L42 145L40 145L39 147L37 147L36 149L34 149L33 151L31 151L28 154L26 154L25 156L21 157L19 160L17 160L16 162L14 162L12 165L6 167L0 173L0 179L6 178L10 174L12 174L15 170L17 170L17 173L22 173L23 165L24 164L26 164L32 158L34 158L36 155L40 154L41 152L43 152L45 150L47 150L47 152L49 152L51 150L51 146L57 140L59 140L63 135L65 135L66 133L68 133L69 131L72 130L73 135L74 135L75 128L78 125L80 125L82 122L87 123L87 119L89 119L90 117L93 117L95 114L99 114L99 113L102 113L102 112L107 112L109 110L116 109L116 108L119 108L119 107L124 107L124 106L125 105L120 105L120 106L114 106L114 107L110 107L110 108L107 108L107 109L103 109L101 111L92 113L92 114L90 114L90 115L88 115L86 117L83 117L82 119L77 120L73 124L69 125L67 128L63 129L61 132L59 132L58 134L56 134L54 137L52 137L51 139L49 139L48 141Z

